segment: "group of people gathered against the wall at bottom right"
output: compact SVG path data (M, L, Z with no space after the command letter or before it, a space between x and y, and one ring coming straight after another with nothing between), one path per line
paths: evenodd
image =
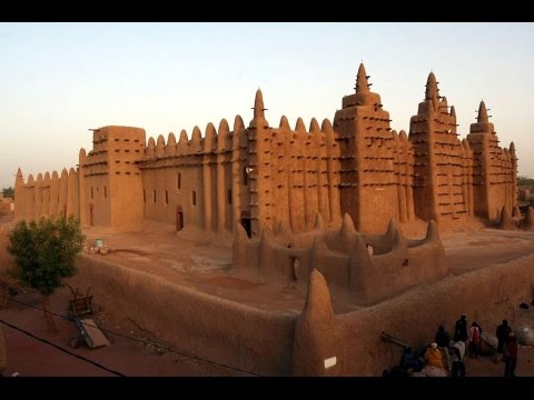
M504 359L505 377L515 377L517 366L517 339L512 332L506 320L497 327L497 360ZM452 377L465 377L464 356L467 351L469 358L478 358L482 346L482 328L473 321L467 329L467 316L462 314L454 327L454 337L451 340L443 326L437 330L434 342L431 343L419 358L413 354L412 348L406 348L400 366L404 370L421 371L425 366L449 371ZM424 360L424 361L423 361ZM423 364L424 362L424 364Z

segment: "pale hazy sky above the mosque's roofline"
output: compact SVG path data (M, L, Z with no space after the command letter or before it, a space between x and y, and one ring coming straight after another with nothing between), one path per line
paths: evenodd
M534 178L534 23L0 23L0 188L60 171L90 128L150 136L283 114L333 119L363 60L392 128L409 128L431 70L461 138L481 99L518 173Z

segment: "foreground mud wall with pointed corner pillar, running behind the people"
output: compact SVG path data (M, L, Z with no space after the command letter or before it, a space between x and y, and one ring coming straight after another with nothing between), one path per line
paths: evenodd
M293 373L380 376L384 369L397 364L402 354L399 347L380 340L383 331L422 347L433 341L438 326L451 332L463 312L483 328L504 318L513 323L514 309L532 300L533 263L534 256L527 256L448 277L340 316L333 314L327 286L315 272L305 312L296 327ZM337 364L325 369L324 360L332 357L337 357Z

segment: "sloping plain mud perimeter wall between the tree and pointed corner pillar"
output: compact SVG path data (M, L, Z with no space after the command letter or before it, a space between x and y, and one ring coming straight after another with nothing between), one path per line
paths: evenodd
M95 302L157 332L174 348L265 376L290 373L297 316L271 313L81 256L69 283L91 287Z

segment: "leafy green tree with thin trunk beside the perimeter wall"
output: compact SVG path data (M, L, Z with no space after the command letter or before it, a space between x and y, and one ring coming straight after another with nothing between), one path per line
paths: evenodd
M50 310L50 296L65 278L76 273L76 258L82 249L85 236L80 222L66 219L41 218L38 222L19 221L9 232L8 251L14 256L11 277L22 286L36 289L42 297L42 310L50 332L56 323Z

